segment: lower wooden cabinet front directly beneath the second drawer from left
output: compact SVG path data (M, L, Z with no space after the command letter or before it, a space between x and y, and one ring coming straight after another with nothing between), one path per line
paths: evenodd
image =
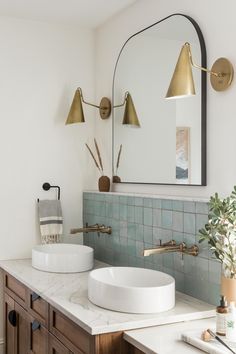
M29 322L30 353L48 353L48 331L42 324L30 316Z

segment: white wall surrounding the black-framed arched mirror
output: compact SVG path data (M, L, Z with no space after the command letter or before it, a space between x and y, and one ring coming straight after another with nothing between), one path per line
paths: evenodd
M214 14L212 14L214 9ZM97 97L111 92L112 75L117 55L125 40L136 31L168 16L181 12L192 16L203 32L211 66L218 57L228 57L236 67L235 0L139 0L134 5L113 17L96 33L96 93ZM222 13L227 12L227 18ZM163 195L209 197L215 191L228 194L236 182L236 85L218 93L210 84L207 89L207 187L182 187L158 185L117 185L116 191L155 193ZM209 79L208 79L209 83ZM97 122L107 164L111 161L111 121ZM110 172L111 173L111 172Z

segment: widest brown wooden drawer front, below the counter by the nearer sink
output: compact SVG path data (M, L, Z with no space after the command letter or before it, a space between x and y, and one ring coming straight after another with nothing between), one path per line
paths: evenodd
M50 332L74 354L93 354L94 336L89 335L73 321L50 306Z

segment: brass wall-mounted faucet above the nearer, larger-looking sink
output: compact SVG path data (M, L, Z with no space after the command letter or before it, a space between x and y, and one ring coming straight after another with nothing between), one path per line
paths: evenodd
M199 253L199 248L197 245L187 247L184 242L177 245L175 240L171 240L163 244L160 241L160 246L157 246L155 248L144 249L143 256L147 257L150 256L151 254L162 254L162 253L170 253L170 252L180 252L182 254L189 254L190 256L196 257Z

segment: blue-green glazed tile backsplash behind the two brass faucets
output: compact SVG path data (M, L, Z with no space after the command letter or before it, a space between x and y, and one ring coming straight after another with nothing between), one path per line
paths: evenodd
M83 222L111 226L112 235L88 233L84 243L95 258L116 266L136 266L164 271L176 280L176 289L211 304L218 304L221 265L206 244L198 243L198 230L207 222L204 201L84 192ZM144 248L160 241L197 244L199 255L180 253L143 257Z

